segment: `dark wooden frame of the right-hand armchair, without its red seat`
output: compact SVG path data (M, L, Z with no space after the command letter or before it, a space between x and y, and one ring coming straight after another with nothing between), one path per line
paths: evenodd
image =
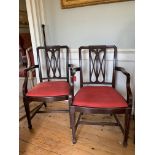
M111 80L107 80L107 53L113 54L113 57L110 59L112 62L112 76ZM88 54L88 60L89 60L89 69L84 68L86 64L84 65L83 60L85 60L85 57L83 57L83 54ZM123 135L123 145L127 146L127 140L128 140L128 133L129 133L129 124L130 124L130 116L131 116L131 110L132 110L132 93L130 89L130 74L125 71L122 67L117 67L117 47L116 46L106 46L106 45L97 45L97 46L81 46L79 48L79 65L80 67L77 68L71 68L71 76L75 76L76 72L80 72L80 87L84 87L85 85L109 85L113 88L115 88L115 81L116 81L116 72L121 72L126 76L126 92L127 92L127 98L125 99L128 107L126 108L90 108L90 107L81 107L77 105L73 105L74 102L74 95L72 93L72 96L69 97L70 102L70 116L71 116L71 128L72 128L72 142L73 144L76 143L76 130L78 127L78 124L87 124L87 125L114 125L119 126ZM88 71L88 78L85 80L83 72ZM93 79L95 77L95 79ZM74 80L72 80L72 91L74 90ZM75 113L79 112L79 116L75 118ZM114 116L116 122L92 122L92 121L80 121L80 118L84 114L111 114L111 116ZM124 127L120 123L117 114L124 114L125 115L125 124Z

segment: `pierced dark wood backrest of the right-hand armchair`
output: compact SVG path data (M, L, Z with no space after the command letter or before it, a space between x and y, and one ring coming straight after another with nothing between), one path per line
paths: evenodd
M86 52L87 50L87 52ZM110 52L109 52L110 50ZM89 66L86 69L86 62L84 62L84 54L88 53L89 58ZM112 60L108 60L107 54L112 55ZM115 65L116 65L116 57L117 57L117 48L115 46L82 46L80 47L79 59L80 59L80 67L81 73L81 87L83 84L110 84L114 86L114 78L115 78ZM87 57L86 57L87 58ZM111 65L111 66L110 66ZM109 79L109 73L107 71L112 68L111 78ZM84 75L89 72L89 79L84 80Z

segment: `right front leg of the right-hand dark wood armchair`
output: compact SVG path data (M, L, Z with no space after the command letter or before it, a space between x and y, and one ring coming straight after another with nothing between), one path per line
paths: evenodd
M130 127L130 116L131 116L131 110L126 111L125 113L125 128L124 128L124 140L123 140L123 146L127 146L127 141L128 141L128 135L129 135L129 127Z

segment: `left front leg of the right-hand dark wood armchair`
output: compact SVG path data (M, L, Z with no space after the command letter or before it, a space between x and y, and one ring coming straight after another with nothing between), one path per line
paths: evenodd
M70 107L70 118L71 118L71 128L72 128L72 143L76 143L75 138L75 109L74 107Z

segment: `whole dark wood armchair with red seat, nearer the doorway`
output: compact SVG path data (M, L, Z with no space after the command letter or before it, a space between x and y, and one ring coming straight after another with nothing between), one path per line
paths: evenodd
M70 94L69 84L69 48L67 46L37 47L38 65L25 69L25 81L23 84L23 102L25 106L28 128L32 128L31 119L36 113L54 112L54 110L40 108L47 102L68 100ZM29 71L39 69L40 83L28 90ZM30 111L31 102L39 102L39 105ZM56 112L68 112L69 110L55 110Z

